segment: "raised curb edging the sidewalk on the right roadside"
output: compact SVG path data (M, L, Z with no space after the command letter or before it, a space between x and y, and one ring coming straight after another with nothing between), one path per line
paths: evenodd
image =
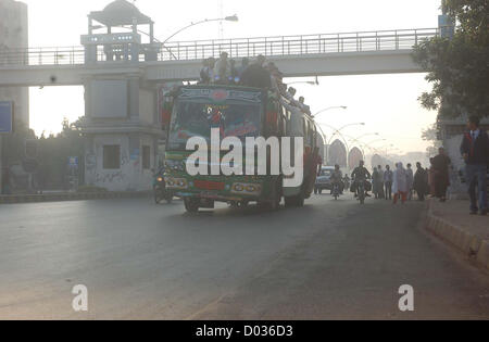
M439 239L448 242L476 263L489 270L489 240L482 240L476 235L469 233L460 227L435 216L429 205L426 229Z

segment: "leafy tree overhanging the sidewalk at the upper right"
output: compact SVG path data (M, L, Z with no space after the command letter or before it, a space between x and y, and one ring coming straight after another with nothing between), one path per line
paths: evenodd
M432 90L422 105L442 117L489 115L489 1L446 0L443 12L459 23L452 39L435 37L415 47L413 59L428 72Z

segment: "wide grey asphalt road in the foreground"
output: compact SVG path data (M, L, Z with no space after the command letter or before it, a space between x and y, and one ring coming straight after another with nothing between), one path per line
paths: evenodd
M424 215L349 195L198 215L149 199L2 205L0 319L489 319L487 275Z

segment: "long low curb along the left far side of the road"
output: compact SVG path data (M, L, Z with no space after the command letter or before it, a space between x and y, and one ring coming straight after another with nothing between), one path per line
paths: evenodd
M139 192L98 192L98 193L65 192L65 193L47 193L47 194L0 195L0 204L143 198L149 197L151 193L152 193L151 191L139 191Z

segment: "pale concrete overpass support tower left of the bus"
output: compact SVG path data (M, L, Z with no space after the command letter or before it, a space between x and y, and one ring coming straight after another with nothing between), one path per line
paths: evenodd
M85 101L86 185L110 191L150 190L163 137L156 88L135 71L87 76Z

